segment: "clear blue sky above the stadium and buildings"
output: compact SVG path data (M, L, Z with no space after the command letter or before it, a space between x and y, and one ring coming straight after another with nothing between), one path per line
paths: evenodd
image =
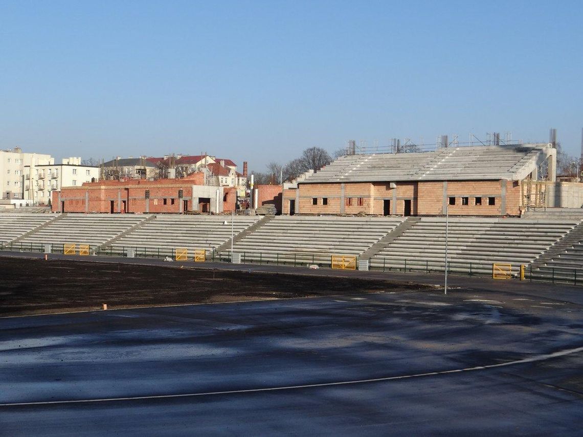
M0 0L0 148L208 151L511 131L578 155L579 1Z

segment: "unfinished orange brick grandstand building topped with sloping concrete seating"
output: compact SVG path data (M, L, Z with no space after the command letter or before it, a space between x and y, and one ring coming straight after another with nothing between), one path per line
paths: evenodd
M343 156L283 191L283 214L520 216L524 185L556 178L550 144Z

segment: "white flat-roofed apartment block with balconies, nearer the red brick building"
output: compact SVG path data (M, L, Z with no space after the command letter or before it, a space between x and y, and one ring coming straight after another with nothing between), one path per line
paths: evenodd
M64 158L61 164L26 165L24 167L24 199L33 204L48 205L52 191L62 186L82 185L99 180L99 167L81 165L80 157Z

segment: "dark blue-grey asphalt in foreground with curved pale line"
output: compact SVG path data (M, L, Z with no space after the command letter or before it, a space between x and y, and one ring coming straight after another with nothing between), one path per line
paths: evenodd
M583 306L541 294L0 319L0 435L581 435Z

